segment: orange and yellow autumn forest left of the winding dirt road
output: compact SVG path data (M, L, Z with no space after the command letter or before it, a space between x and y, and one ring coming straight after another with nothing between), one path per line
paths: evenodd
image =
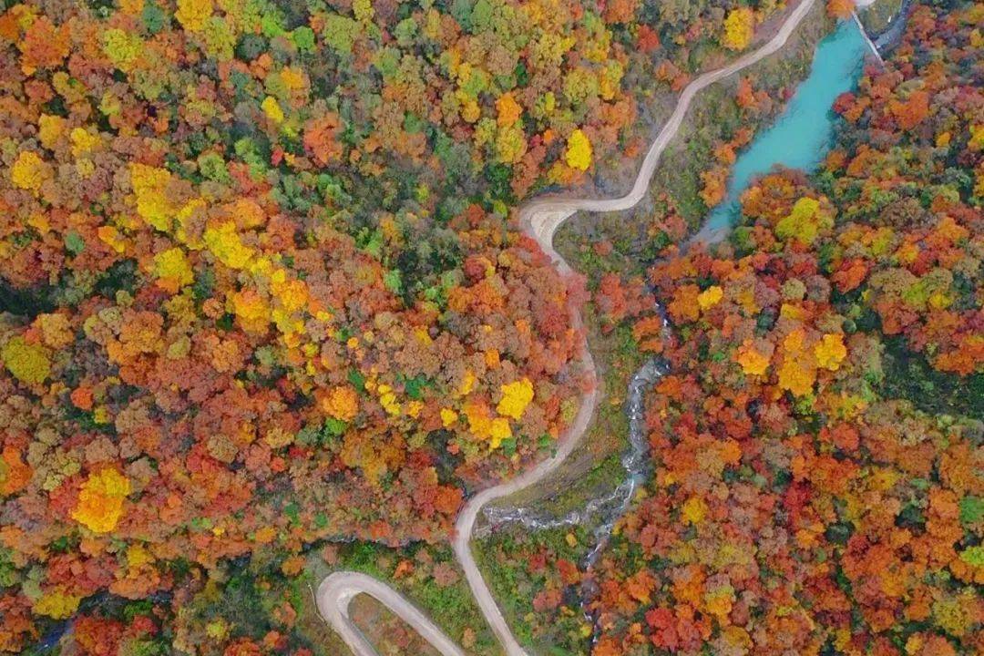
M287 610L192 639L185 605L253 598L230 563L440 543L548 453L580 290L510 206L753 6L4 3L0 650L300 649Z

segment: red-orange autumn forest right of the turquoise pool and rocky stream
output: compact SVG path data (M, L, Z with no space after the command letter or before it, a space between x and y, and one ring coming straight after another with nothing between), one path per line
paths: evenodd
M984 649L982 17L916 7L820 172L650 269L672 371L594 656Z

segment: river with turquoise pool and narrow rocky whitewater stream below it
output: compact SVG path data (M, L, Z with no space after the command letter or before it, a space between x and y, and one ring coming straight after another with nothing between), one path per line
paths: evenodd
M720 235L729 228L737 215L741 193L757 176L769 172L776 165L806 171L817 167L830 149L833 136L836 115L830 106L840 93L856 87L868 52L864 36L853 21L841 22L817 45L810 76L796 89L775 123L760 132L749 148L739 153L728 180L725 201L707 215L702 235ZM664 338L668 338L670 327L665 314L658 305L656 312L663 321ZM595 526L594 545L585 558L584 566L594 565L615 523L628 510L637 488L646 480L650 467L645 421L646 390L667 370L662 360L653 359L630 379L625 404L629 418L629 448L622 455L626 477L618 487L590 500L583 509L573 510L561 517L536 507L487 507L484 510L487 524L476 531L476 537L487 535L489 531L506 524L519 524L526 530L542 530L591 523Z

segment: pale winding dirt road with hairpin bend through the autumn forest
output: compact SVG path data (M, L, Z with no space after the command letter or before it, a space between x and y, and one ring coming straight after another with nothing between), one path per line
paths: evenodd
M539 200L526 205L520 212L520 220L523 231L536 240L544 253L550 256L557 268L562 273L570 272L571 268L563 258L553 248L553 236L557 228L576 211L617 211L629 209L639 203L646 196L646 189L649 186L649 179L655 170L659 155L669 144L670 140L680 129L687 110L694 96L701 89L713 83L741 71L744 68L755 64L764 57L769 56L781 48L789 35L796 29L803 18L810 12L815 0L802 0L800 4L789 14L785 22L776 31L775 35L769 39L762 47L739 57L731 64L716 71L705 73L698 77L680 94L676 108L670 116L666 125L656 136L652 145L646 152L646 158L640 168L639 175L632 190L620 198L614 199L557 199ZM571 324L575 329L582 328L582 318L580 308L571 307ZM584 371L594 376L594 362L591 354L584 344L583 356ZM590 423L597 403L597 391L592 386L591 390L584 394L581 407L574 423L568 428L565 435L560 440L560 447L550 458L543 460L532 469L526 470L521 476L511 479L506 483L488 488L472 497L461 509L461 514L456 522L456 535L453 543L455 555L461 568L464 570L465 579L471 587L478 607L489 626L499 639L507 656L526 656L526 652L520 643L516 641L513 632L502 616L502 612L495 603L492 593L482 578L481 571L475 563L471 554L471 531L475 525L475 519L479 511L488 503L508 497L523 488L526 488L537 481L545 478L561 462L563 462L574 447L577 447L584 437L584 431ZM427 619L409 601L400 595L396 590L375 578L353 571L339 571L325 578L318 587L317 602L318 609L325 620L338 631L342 640L352 650L355 656L377 656L375 649L366 640L359 629L352 624L348 617L348 605L352 597L356 594L365 593L380 603L387 606L392 612L408 625L413 626L421 636L430 642L443 656L463 656L461 649L445 633Z

